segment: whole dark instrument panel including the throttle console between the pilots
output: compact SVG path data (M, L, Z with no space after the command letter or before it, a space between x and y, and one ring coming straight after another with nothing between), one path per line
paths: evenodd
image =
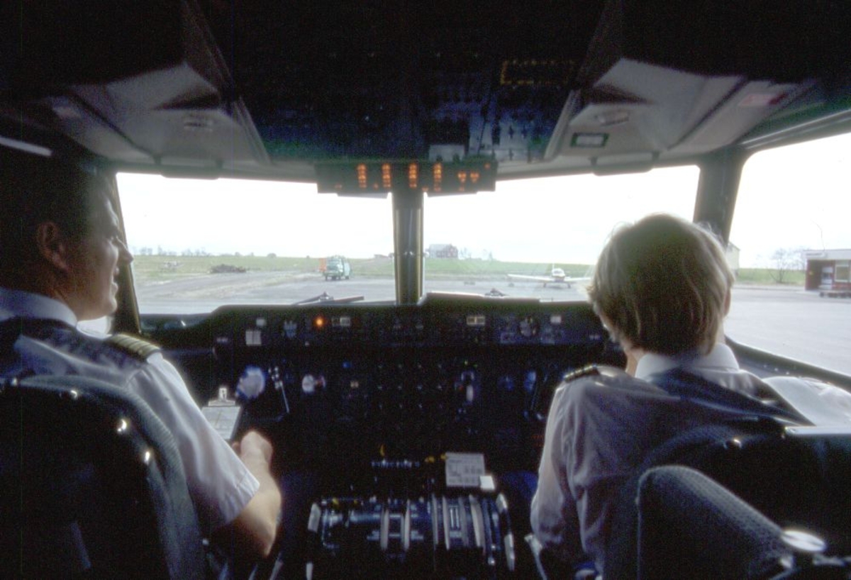
M270 437L288 577L306 567L511 577L513 537L528 532L523 482L538 468L554 390L577 368L625 362L585 303L240 305L143 323L199 401L225 390L242 405L237 436ZM471 484L481 473L490 491ZM503 493L499 517L480 518ZM441 521L458 529L441 536ZM517 554L517 570L531 570Z

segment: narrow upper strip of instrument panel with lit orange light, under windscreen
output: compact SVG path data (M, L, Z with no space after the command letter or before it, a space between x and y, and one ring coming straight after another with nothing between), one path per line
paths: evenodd
M556 304L556 303L553 303ZM597 344L606 333L585 304L496 308L427 308L333 304L326 307L232 307L214 314L217 347L309 348Z

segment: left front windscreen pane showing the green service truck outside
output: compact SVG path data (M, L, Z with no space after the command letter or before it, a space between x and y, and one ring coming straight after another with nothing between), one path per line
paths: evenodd
M142 314L395 299L389 197L257 180L117 179ZM331 256L345 256L351 270L324 276Z

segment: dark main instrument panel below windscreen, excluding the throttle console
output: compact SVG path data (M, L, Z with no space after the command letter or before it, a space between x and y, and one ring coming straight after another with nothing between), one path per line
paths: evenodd
M564 373L623 356L579 303L234 306L203 326L213 376L200 390L235 393L243 428L273 437L288 469L349 493L440 491L447 452L534 470Z

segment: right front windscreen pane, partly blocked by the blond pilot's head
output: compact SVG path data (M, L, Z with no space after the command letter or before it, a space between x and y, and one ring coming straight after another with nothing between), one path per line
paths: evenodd
M500 181L475 196L426 198L426 291L585 300L612 230L648 213L691 220L694 166L623 175Z

